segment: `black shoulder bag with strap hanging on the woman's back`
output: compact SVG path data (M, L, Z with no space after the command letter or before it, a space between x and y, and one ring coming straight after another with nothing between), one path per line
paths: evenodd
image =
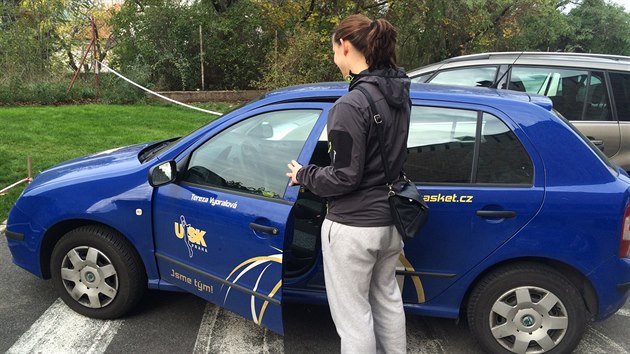
M372 95L363 87L357 86L356 89L363 92L373 114L374 123L376 123L376 133L378 135L379 150L381 151L381 160L383 161L383 169L385 170L385 178L387 179L389 209L394 219L394 225L404 240L410 240L416 236L416 233L426 223L429 216L429 206L422 199L422 195L418 192L416 185L411 182L404 172L402 180L397 183L389 171L385 154L385 138L383 136L383 119L372 99ZM400 185L394 188L394 184ZM398 191L396 191L398 189Z

